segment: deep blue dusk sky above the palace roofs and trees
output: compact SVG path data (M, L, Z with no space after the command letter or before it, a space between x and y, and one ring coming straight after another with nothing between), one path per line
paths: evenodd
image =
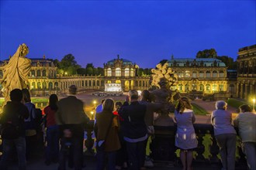
M3 1L0 60L29 46L29 58L103 66L129 59L154 67L161 59L194 58L199 50L237 59L256 43L256 1Z

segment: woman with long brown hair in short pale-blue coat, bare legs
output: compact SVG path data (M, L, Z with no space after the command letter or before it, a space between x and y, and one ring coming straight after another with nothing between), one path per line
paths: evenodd
M177 122L175 146L181 149L180 158L183 170L192 170L192 151L197 148L198 141L193 127L195 114L187 97L178 100L175 109L175 121Z

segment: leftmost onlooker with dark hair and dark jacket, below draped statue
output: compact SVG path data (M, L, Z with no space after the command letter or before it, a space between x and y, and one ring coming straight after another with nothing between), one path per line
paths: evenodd
M11 101L8 101L5 107L3 107L3 112L0 119L0 124L2 124L1 136L3 139L3 153L0 162L0 169L8 169L12 149L16 148L19 160L19 170L25 170L26 140L24 119L29 117L29 110L24 104L21 103L21 90L12 90L10 93L10 98ZM7 128L10 126L12 126L12 128L16 128L16 131L14 131L15 133L12 134L12 131L8 131Z

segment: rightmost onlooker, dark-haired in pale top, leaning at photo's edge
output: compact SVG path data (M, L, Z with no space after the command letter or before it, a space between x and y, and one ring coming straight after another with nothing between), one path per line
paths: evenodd
M252 112L249 105L239 107L240 114L234 120L234 126L238 128L242 139L242 148L247 158L250 170L256 170L256 114Z

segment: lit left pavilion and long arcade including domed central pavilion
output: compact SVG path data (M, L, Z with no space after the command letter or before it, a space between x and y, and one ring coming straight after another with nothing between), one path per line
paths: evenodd
M149 88L149 76L137 76L136 64L127 59L112 59L104 64L104 76L61 76L57 75L57 67L53 59L31 58L32 66L29 73L29 89L33 96L45 96L50 93L67 93L72 84L78 87L78 91L105 90L106 83L120 83L123 90L145 90ZM3 76L2 67L9 62L5 59L0 62L0 80ZM108 70L109 73L107 72ZM0 84L2 88L2 85Z

